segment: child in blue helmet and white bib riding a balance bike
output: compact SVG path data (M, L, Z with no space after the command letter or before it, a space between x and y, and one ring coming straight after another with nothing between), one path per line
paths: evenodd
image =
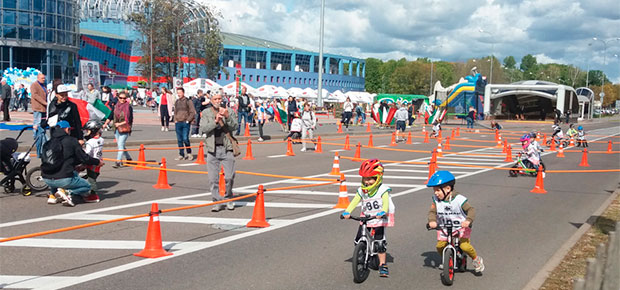
M434 190L433 203L428 212L428 225L430 228L443 227L447 219L458 228L460 248L474 261L474 269L477 273L484 271L482 257L470 243L471 224L476 217L476 209L469 203L467 198L454 191L456 179L450 171L437 171L431 176L426 184ZM443 249L448 245L448 237L441 230L437 231L437 252L443 254ZM439 265L443 269L443 264Z

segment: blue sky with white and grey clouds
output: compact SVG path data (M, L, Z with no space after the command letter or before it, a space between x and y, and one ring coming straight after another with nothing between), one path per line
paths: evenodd
M320 0L198 1L222 31L319 51ZM382 60L532 54L620 83L619 0L325 0L324 41L325 53Z

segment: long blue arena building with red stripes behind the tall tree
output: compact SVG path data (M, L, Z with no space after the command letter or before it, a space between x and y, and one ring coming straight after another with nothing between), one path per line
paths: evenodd
M139 81L148 83L148 78L136 71L136 64L143 53L135 40L141 36L128 22L128 15L132 12L145 11L144 3L140 0L82 2L79 59L100 63L102 84L136 86ZM192 0L184 2L189 7L193 6ZM200 11L194 14L201 15ZM263 85L287 89L318 87L318 52L232 33L222 33L222 38L224 49L220 55L220 64L228 73L220 71L214 80L218 84L233 82L236 67L240 65L241 81L255 88ZM323 88L330 92L364 90L365 60L324 54L323 61ZM189 61L184 58L184 62ZM189 80L184 75L184 81ZM160 76L153 82L163 85L166 79Z

